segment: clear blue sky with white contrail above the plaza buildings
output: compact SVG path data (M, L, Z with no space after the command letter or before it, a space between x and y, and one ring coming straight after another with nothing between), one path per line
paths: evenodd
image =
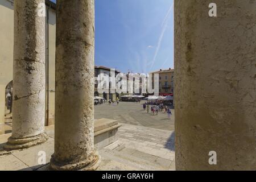
M95 0L96 65L133 73L174 68L173 3Z

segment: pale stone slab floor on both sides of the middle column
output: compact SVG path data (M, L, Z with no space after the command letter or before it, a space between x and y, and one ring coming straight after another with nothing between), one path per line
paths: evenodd
M46 127L49 140L24 150L1 151L9 134L0 135L0 170L47 170L38 163L39 151L46 162L53 154L54 126ZM122 124L118 141L99 150L102 162L98 170L175 170L174 131Z

